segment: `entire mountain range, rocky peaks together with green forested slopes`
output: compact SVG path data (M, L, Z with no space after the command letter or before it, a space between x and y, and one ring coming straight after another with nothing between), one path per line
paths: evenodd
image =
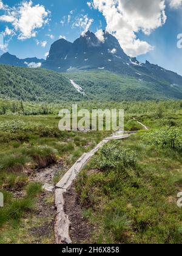
M13 67L0 65L0 97L47 102L182 99L177 73L127 56L105 31L101 39L92 32L73 43L60 39L45 61L3 54L0 63Z

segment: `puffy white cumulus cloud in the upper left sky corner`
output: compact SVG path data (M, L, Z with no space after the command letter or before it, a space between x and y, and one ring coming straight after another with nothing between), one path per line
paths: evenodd
M32 1L7 8L5 12L5 15L0 16L0 21L12 23L15 31L18 32L19 40L35 37L37 29L49 21L47 18L49 11L46 11L43 5L33 5Z

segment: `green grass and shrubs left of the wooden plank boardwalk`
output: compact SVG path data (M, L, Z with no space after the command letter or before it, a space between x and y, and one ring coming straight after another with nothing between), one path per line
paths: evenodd
M35 106L39 111L39 104ZM44 196L44 183L34 182L33 177L39 169L59 160L64 168L55 173L55 184L84 152L108 134L60 132L56 106L54 109L51 115L23 115L10 110L0 115L0 191L5 197L4 208L0 209L0 243L35 243L41 229L53 227L54 212L50 216L37 213L42 201L45 208L53 208L53 194ZM53 229L39 239L39 243L54 243Z

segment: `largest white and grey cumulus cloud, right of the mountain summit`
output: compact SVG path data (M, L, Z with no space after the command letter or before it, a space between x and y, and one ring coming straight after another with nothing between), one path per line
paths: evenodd
M164 0L93 0L93 7L106 18L106 30L115 35L126 54L135 57L153 47L136 37L149 35L166 22Z

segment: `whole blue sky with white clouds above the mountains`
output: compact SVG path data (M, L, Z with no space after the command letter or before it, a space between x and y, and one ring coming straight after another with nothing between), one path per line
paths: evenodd
M0 0L0 32L6 46L0 54L8 51L19 58L45 59L50 45L60 36L74 41L87 29L96 32L107 28L127 54L182 74L182 48L177 48L177 35L182 34L182 0L118 0L114 10L111 4L116 0L105 0L103 5L101 0L24 2L27 5ZM32 10L36 16L29 12Z

